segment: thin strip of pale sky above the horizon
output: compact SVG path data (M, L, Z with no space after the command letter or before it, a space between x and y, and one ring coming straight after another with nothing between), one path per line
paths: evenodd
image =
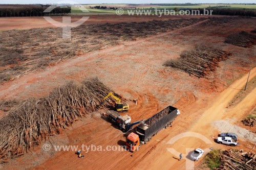
M63 0L0 0L0 4L56 4ZM77 4L168 4L168 3L206 3L206 4L242 4L242 3L256 3L255 0L95 0L95 1L86 1L86 0L71 0L72 2L76 2ZM68 2L68 1L67 1ZM62 3L61 3L62 4ZM70 3L69 3L70 4Z

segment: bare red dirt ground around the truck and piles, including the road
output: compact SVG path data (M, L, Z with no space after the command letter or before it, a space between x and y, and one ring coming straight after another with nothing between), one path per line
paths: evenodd
M185 169L185 159L178 161L178 155L171 154L167 148L175 148L177 152L184 153L184 157L186 148L230 148L212 140L212 136L217 136L217 130L211 123L218 119L236 117L239 113L245 114L255 105L255 96L250 93L238 107L232 110L225 108L244 86L248 68L255 66L255 54L252 48L236 47L223 41L225 36L235 29L254 29L254 21L255 19L249 18L214 27L195 23L193 26L69 59L45 70L35 71L20 79L3 83L0 85L0 99L27 99L45 96L54 87L70 80L81 81L87 77L97 76L105 85L130 100L128 114L132 117L132 122L148 118L167 105L179 108L181 115L175 119L173 127L158 133L133 154L92 151L83 152L85 157L79 159L75 151L55 152L51 149L45 152L41 149L45 143L42 141L38 147L31 148L32 153L10 160L9 163L2 165L2 168ZM210 79L198 79L185 72L163 66L167 59L175 59L182 51L201 43L218 46L233 54L228 60L220 63L220 67L212 73ZM229 86L230 82L240 75L243 77ZM250 79L255 75L254 68ZM131 102L133 99L138 99L137 106ZM248 101L249 99L253 100ZM167 143L174 136L189 131L204 135L212 144L206 144L195 137L182 138L174 144ZM112 126L97 112L77 121L60 135L52 136L50 141L53 145L83 143L102 145L104 148L107 145L124 145L125 137L116 126ZM237 148L245 149L246 144L248 143L241 143ZM196 165L200 161L196 162Z

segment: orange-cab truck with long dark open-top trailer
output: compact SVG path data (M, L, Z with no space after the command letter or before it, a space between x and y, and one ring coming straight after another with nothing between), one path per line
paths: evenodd
M177 117L177 110L173 106L168 106L138 125L136 133L132 132L126 137L126 149L134 152L162 129L172 126L173 120Z

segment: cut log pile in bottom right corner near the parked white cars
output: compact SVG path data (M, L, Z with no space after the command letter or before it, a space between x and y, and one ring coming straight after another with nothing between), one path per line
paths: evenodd
M221 154L221 169L247 170L256 169L256 154L238 150L224 151Z

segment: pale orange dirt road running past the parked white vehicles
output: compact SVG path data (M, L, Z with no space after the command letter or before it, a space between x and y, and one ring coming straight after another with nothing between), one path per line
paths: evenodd
M254 69L251 70L251 75L249 80L251 80L255 76L256 76L256 67L254 67ZM232 85L230 85L229 88L224 90L217 97L217 99L212 101L212 104L207 108L205 112L202 113L201 117L198 120L196 120L190 128L187 129L187 132L200 133L212 141L212 136L214 136L215 138L217 137L217 134L214 133L215 127L211 126L212 122L214 122L215 120L236 117L239 114L241 115L244 112L250 111L253 107L255 107L256 88L253 91L251 91L247 95L247 97L242 102L240 102L236 107L234 107L231 110L226 109L227 104L233 99L233 97L239 92L239 90L244 87L247 77L248 75L243 76L240 80L234 82ZM167 137L166 140L167 141L170 140L169 138L170 137ZM184 152L185 148L205 149L210 147L222 149L223 145L217 144L214 141L212 141L212 144L206 144L201 139L194 138L193 140L193 138L191 139L190 137L181 138L180 140L178 140L172 145L172 148L175 148L177 151L184 153L183 155L186 155ZM159 169L159 168L185 169L186 168L185 160L177 162L177 160L174 159L172 156L174 155L170 154L169 152L165 152L163 155L161 154L161 155L154 156L155 161L152 163L152 166L150 166L149 168L150 169ZM176 155L176 157L178 158L178 155ZM143 160L143 162L146 163L151 159L153 159L153 157L147 157L146 159Z

